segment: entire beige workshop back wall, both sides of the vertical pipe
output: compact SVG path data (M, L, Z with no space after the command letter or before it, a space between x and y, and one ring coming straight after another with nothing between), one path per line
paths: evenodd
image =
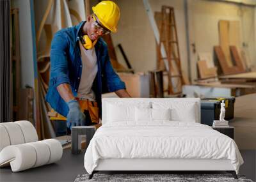
M156 68L156 42L143 0L116 0L121 10L118 33L112 34L114 46L121 43L136 72L147 72ZM94 4L96 4L93 1ZM161 11L162 5L173 6L177 22L182 70L188 74L188 52L186 49L186 27L184 1L149 0L152 11ZM188 0L189 47L196 44L196 53L191 54L192 80L196 79L196 57L198 52L210 52L219 45L218 21L238 20L241 23L241 48L252 64L256 64L255 8L237 3L205 0ZM116 47L118 61L125 62Z

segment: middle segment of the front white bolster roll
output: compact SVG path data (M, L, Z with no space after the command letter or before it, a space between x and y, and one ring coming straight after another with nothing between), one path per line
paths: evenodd
M36 151L36 162L33 167L45 165L50 159L50 149L45 142L31 142L28 145L32 146Z

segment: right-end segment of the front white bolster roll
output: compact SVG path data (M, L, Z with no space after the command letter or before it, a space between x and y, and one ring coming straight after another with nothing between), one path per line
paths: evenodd
M63 148L61 146L61 143L58 140L47 139L47 140L42 140L41 142L44 142L45 144L47 144L47 146L49 146L49 149L50 149L50 158L47 164L56 162L61 159Z

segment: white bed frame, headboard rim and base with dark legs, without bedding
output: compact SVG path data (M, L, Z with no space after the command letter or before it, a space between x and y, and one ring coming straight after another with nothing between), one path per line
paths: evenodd
M197 123L200 123L200 99L198 98L104 98L102 100L102 125L106 123L106 105L107 102L152 102L165 101L165 102L177 102L188 101L196 103L196 110L198 114ZM154 158L109 158L99 160L97 167L90 174L89 179L92 179L93 174L100 171L147 171L152 173L167 172L168 171L227 171L237 179L236 171L231 164L230 160L211 160L211 159L154 159Z

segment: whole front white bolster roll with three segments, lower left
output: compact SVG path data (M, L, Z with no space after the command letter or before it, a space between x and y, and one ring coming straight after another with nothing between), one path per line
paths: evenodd
M58 140L7 146L0 152L0 167L10 163L13 172L56 162L61 159L62 146Z

